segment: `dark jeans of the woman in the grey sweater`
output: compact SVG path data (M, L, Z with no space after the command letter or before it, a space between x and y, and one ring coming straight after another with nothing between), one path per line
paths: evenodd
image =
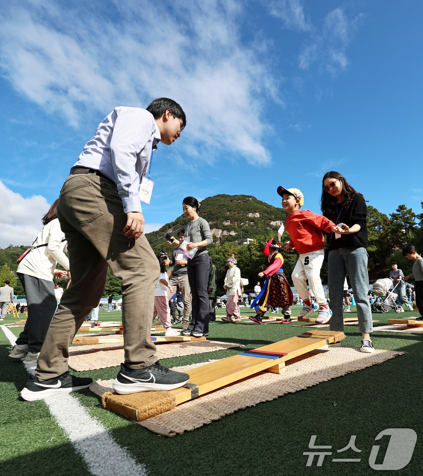
M191 288L191 322L188 329L208 332L208 273L210 259L208 253L188 259L187 272Z

